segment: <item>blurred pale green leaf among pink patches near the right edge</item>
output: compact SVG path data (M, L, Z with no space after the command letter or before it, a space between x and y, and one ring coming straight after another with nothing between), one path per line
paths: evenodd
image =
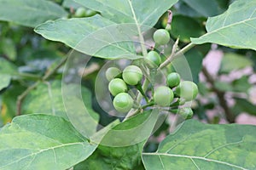
M240 54L228 53L224 54L220 64L219 73L230 73L230 71L243 69L252 65L253 61L251 61L251 59L247 59Z

